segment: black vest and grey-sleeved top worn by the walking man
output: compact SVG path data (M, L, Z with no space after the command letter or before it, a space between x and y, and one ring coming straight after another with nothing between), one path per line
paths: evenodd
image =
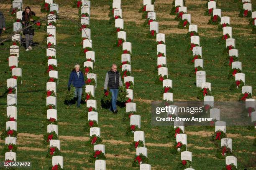
M108 71L105 78L104 89L118 89L119 86L123 86L120 73L118 71Z

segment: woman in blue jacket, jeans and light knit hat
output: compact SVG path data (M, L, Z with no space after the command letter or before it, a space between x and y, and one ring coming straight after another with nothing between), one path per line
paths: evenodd
M70 91L70 85L75 87L74 97L77 97L77 107L80 107L81 98L82 98L82 89L85 85L84 83L84 74L80 70L80 65L77 63L74 66L74 69L70 73L69 76L69 83L68 83L68 90ZM70 105L71 103L69 103Z

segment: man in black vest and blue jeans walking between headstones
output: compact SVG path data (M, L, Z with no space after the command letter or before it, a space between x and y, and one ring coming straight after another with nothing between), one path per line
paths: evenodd
M113 64L111 67L111 70L107 72L106 78L105 78L105 83L104 83L104 92L107 91L109 88L111 94L112 94L112 99L111 99L111 106L110 110L113 113L117 113L117 107L116 107L116 101L118 97L118 88L119 86L123 86L122 80L120 73L117 70L116 64Z

